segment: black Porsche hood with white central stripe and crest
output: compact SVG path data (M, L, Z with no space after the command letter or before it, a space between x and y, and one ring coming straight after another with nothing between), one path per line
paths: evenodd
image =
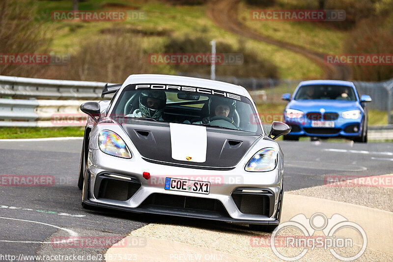
M260 137L197 125L133 122L121 126L143 158L179 165L233 167Z

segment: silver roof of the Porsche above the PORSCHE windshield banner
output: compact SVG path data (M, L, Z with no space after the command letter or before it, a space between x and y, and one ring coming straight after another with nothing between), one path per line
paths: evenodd
M121 88L129 84L136 83L157 83L157 84L177 84L177 85L187 85L196 87L205 87L209 89L216 89L220 91L225 91L229 93L234 93L237 95L245 96L251 99L250 94L247 92L246 88L240 85L225 83L210 79L200 79L192 77L181 77L181 76L170 76L170 75L156 75L156 74L140 74L131 75L123 83Z

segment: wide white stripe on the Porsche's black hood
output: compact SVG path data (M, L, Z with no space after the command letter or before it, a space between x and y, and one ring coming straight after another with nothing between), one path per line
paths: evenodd
M172 158L203 163L206 161L206 127L169 123Z

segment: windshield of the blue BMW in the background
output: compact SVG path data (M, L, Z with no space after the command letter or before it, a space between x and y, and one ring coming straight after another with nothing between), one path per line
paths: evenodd
M299 87L295 100L356 101L353 88L345 85L304 85Z

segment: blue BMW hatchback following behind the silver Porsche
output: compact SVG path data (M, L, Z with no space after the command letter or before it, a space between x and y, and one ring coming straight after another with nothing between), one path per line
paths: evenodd
M366 102L370 96L359 94L349 81L310 80L301 82L284 110L284 122L291 132L284 140L299 140L300 136L345 137L355 142L367 142Z

